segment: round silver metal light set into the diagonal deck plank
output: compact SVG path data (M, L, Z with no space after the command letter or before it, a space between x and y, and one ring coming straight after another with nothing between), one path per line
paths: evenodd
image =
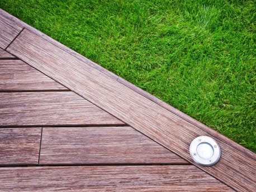
M197 164L211 166L220 160L221 149L213 138L200 136L190 143L189 153Z

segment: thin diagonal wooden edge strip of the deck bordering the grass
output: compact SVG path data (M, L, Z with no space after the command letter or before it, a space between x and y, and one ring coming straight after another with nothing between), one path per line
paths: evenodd
M124 84L126 87L129 87L130 89L134 90L135 92L143 95L145 98L151 100L154 103L157 103L158 105L162 106L163 108L167 109L168 111L176 114L177 116L181 117L185 121L188 121L189 123L195 125L196 127L202 129L203 131L206 131L209 135L213 137L219 138L221 141L227 143L228 145L232 146L235 150L239 150L243 153L245 153L246 156L249 156L253 159L255 159L255 154L248 150L247 148L244 148L243 146L239 145L238 143L230 140L229 138L221 135L220 133L216 132L214 129L211 129L210 127L205 126L205 124L202 124L201 122L196 121L196 119L193 119L192 117L189 117L187 114L182 113L178 109L170 106L167 103L164 103L162 100L154 97L153 95L145 92L144 90L136 87L134 84L131 84L129 81L126 81L125 79L122 79L120 76L117 76L116 74L113 74L111 71L108 71L107 69L103 68L102 66L94 63L93 61L87 59L86 57L80 55L78 52L75 52L74 50L70 49L69 47L61 44L60 42L51 39L51 37L45 35L44 33L36 30L34 27L31 27L30 25L27 25L27 23L19 20L18 18L10 15L3 9L0 9L0 14L4 17L8 18L9 20L12 20L13 22L18 23L20 26L25 27L35 33L36 35L40 36L42 39L50 42L51 44L58 46L60 49L64 50L65 52L68 52L70 55L73 55L74 57L77 57L79 60L83 61L84 63L92 66L93 68L97 69L98 71L101 71L101 73L109 76L111 79L118 81L121 84Z

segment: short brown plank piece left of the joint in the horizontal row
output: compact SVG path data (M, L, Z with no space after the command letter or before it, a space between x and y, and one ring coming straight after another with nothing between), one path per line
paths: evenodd
M0 166L37 164L41 128L0 128Z

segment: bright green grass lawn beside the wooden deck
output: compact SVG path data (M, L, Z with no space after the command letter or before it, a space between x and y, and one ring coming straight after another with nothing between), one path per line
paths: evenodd
M0 7L256 152L255 1L1 0Z

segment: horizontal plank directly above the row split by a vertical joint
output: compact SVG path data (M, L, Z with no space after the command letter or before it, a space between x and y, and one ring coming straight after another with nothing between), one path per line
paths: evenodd
M124 124L73 92L0 93L0 126Z

